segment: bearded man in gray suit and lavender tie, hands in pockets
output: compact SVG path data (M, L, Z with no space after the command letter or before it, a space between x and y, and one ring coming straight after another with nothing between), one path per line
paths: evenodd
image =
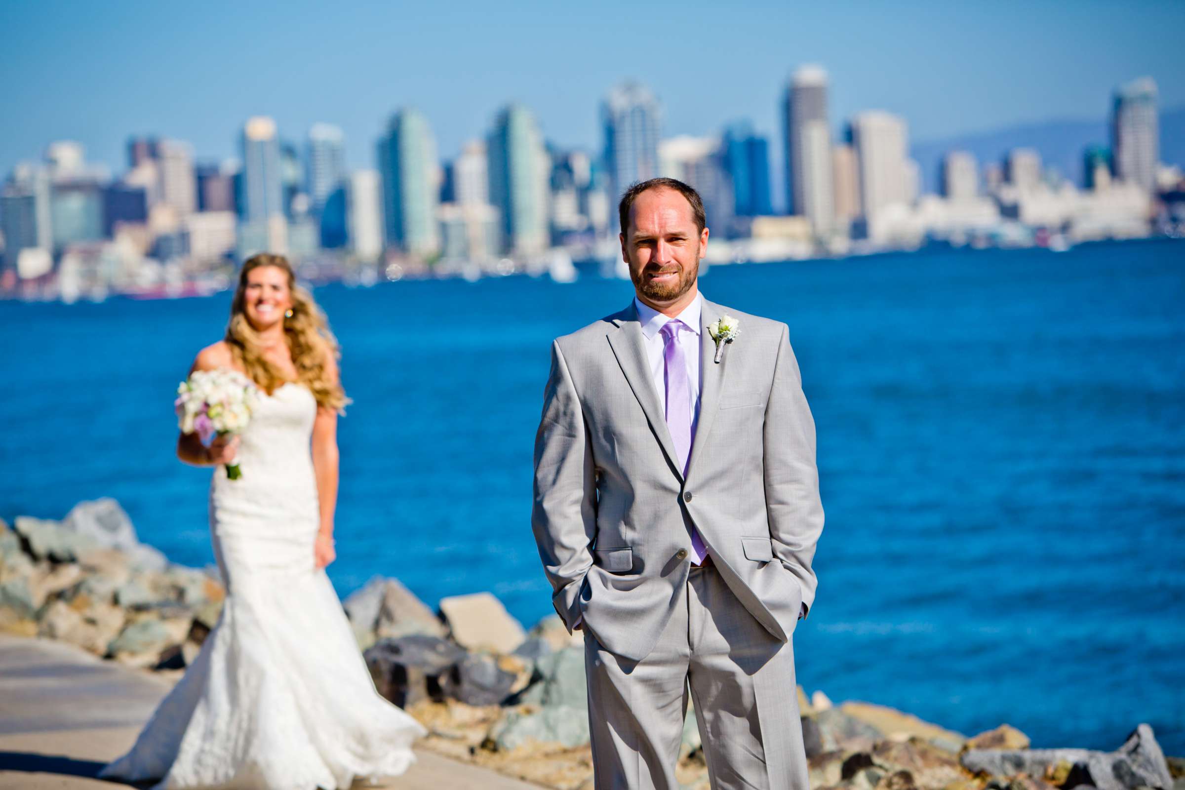
M556 611L584 630L596 786L679 786L690 686L713 789L807 790L792 635L824 515L787 327L700 296L690 186L635 185L620 218L636 297L555 341L534 447L532 526Z

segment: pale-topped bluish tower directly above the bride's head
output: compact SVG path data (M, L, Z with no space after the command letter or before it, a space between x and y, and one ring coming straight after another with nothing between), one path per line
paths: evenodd
M276 123L256 116L243 127L243 171L239 178L238 252L283 253L288 249L284 217L284 185L281 172L280 137Z

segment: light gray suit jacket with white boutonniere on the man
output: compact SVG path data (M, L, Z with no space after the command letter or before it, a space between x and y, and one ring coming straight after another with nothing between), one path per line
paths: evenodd
M741 335L719 364L707 325ZM557 339L534 444L532 528L552 602L640 661L687 580L693 525L744 608L787 641L822 532L814 420L784 323L704 300L703 391L684 477L630 306Z

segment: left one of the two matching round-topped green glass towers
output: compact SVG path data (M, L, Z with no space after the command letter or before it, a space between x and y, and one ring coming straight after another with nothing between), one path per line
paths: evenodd
M440 193L436 141L428 120L418 110L401 109L391 116L378 148L387 244L412 255L435 253Z

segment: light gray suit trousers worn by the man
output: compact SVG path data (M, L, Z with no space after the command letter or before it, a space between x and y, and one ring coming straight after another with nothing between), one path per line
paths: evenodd
M688 686L712 790L808 790L793 641L737 600L715 566L692 567L654 649L641 661L585 629L597 790L678 790Z

